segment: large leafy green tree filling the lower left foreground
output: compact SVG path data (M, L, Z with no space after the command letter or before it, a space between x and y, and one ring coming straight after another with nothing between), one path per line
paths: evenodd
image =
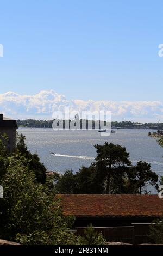
M14 154L9 157L2 180L4 199L1 237L26 245L68 245L74 235L68 231L70 220L62 215L60 202L28 169L28 160Z

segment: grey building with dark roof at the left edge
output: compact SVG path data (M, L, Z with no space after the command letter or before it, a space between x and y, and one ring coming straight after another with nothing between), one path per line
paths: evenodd
M7 134L8 136L8 151L12 152L16 147L16 129L17 123L16 120L3 117L3 114L0 114L0 136ZM2 139L0 137L0 139Z

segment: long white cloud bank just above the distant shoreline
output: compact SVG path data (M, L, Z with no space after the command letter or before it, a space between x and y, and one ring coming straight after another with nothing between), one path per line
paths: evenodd
M111 111L111 119L163 122L163 103L160 101L93 101L67 100L65 95L54 90L42 90L35 95L20 95L15 92L0 94L0 112L14 119L52 119L54 111Z

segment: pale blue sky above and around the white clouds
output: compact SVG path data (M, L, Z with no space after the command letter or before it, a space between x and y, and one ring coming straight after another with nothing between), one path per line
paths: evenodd
M84 101L87 108L90 100L119 108L133 102L140 113L127 103L125 115L115 118L163 122L162 7L162 1L149 0L1 1L0 111L32 116L29 102L22 110L8 92L35 99L40 92L53 97L54 91L67 102ZM35 106L35 118L41 113Z

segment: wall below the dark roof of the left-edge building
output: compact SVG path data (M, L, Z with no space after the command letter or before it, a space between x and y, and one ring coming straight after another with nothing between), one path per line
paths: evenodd
M6 133L9 138L7 149L9 152L12 152L16 147L16 129L0 127L0 134L4 135L4 133Z

